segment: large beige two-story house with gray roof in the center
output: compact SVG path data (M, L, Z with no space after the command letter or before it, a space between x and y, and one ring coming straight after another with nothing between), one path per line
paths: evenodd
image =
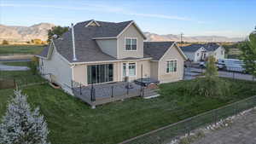
M88 20L72 26L38 55L40 72L71 92L72 81L108 84L138 78L183 79L186 56L175 42L143 42L134 21Z

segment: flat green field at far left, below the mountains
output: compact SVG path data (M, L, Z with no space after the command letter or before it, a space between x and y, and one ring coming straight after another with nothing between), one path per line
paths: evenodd
M38 55L44 49L44 47L44 45L0 45L0 55Z

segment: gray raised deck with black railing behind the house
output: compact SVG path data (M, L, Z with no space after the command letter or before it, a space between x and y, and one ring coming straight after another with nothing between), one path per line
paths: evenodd
M73 94L91 107L96 107L108 102L122 101L126 98L141 96L143 95L143 89L141 85L135 83L116 82L78 86L73 88Z

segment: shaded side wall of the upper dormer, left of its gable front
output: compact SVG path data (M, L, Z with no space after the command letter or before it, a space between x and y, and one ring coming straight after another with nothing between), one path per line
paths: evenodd
M117 40L116 39L99 39L96 43L102 49L103 53L117 58Z

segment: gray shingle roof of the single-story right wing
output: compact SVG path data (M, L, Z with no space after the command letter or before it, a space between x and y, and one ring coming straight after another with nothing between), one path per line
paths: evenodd
M144 54L153 57L153 60L160 60L174 42L144 42Z

